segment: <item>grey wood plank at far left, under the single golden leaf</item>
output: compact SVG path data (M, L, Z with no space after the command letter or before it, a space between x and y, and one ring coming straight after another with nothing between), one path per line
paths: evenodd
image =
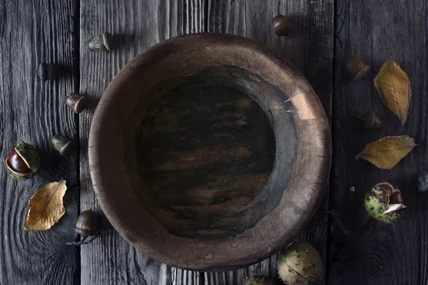
M0 3L0 152L9 155L17 142L29 142L41 155L33 180L16 182L0 167L0 283L72 284L78 279L76 241L78 190L68 190L66 214L45 232L24 230L29 198L39 187L62 177L77 184L77 150L61 157L51 135L73 137L75 115L63 97L76 83L76 1L2 1ZM63 75L41 82L39 63L57 63Z

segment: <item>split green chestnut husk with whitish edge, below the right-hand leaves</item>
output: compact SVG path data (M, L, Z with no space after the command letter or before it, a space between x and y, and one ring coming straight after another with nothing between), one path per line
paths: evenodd
M372 187L365 195L364 206L371 217L387 224L398 222L407 213L401 191L388 182Z

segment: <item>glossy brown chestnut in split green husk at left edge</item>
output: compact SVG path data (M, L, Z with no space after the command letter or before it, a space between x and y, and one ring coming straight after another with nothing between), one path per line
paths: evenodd
M12 178L19 181L29 180L39 170L39 153L28 143L22 142L6 157L4 166Z

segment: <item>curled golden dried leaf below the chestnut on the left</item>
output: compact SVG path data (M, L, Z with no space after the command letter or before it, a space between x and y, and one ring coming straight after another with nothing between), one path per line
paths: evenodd
M30 198L26 229L46 230L58 222L58 219L66 212L63 206L63 196L66 194L66 190L66 180L51 182L37 190Z

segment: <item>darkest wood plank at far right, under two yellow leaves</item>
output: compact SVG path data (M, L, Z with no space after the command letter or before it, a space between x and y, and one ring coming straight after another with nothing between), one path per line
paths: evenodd
M327 280L329 284L427 284L428 204L414 185L417 170L427 168L427 2L346 0L336 1L336 5L330 209L347 231L358 229L365 219L363 193L388 181L402 190L409 212L396 225L375 222L358 234L345 234L339 222L333 222ZM343 62L351 55L370 65L365 80L352 83L347 78ZM412 103L404 127L384 106L373 85L389 57L412 81ZM368 110L381 118L380 130L362 130L357 115ZM404 134L419 145L392 170L378 170L355 160L367 143ZM355 187L355 193L349 187Z

